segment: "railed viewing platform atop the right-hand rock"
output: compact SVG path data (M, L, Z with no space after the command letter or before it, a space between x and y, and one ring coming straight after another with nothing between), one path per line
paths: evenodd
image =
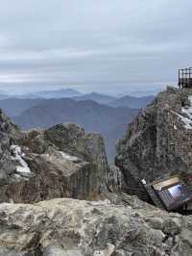
M180 89L192 89L192 67L179 69L179 83Z

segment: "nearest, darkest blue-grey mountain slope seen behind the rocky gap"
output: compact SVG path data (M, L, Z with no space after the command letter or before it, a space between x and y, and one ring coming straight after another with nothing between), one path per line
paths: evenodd
M75 101L69 98L48 99L26 110L13 120L22 128L50 127L60 122L73 122L88 132L101 133L107 143L109 159L114 156L114 143L137 110L111 108L91 100Z

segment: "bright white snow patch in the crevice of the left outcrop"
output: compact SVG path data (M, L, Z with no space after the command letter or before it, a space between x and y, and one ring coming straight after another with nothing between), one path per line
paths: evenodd
M30 167L22 158L24 155L21 152L20 146L11 145L11 150L13 153L12 160L17 161L19 163L19 166L16 166L16 171L30 173L31 172Z

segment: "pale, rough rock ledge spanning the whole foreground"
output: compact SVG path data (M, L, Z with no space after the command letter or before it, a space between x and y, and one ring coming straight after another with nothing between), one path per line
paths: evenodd
M192 255L192 218L167 214L133 197L54 199L0 205L0 255Z

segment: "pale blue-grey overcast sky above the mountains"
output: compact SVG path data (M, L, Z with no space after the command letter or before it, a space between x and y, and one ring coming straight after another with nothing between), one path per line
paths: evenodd
M118 93L192 65L191 0L0 0L0 85Z

